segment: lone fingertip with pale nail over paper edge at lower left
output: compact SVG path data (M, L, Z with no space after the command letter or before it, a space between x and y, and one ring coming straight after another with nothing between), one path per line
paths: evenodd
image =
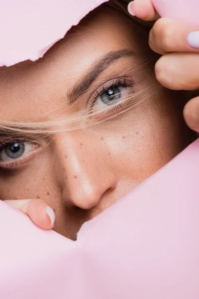
M42 199L5 200L7 204L21 211L43 229L51 229L55 223L55 213Z

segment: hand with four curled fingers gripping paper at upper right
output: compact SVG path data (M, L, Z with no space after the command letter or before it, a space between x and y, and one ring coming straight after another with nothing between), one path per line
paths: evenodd
M199 26L160 18L151 0L134 0L129 13L143 20L157 20L149 34L149 45L163 56L155 65L157 80L173 90L199 90ZM184 108L188 126L199 132L199 97Z

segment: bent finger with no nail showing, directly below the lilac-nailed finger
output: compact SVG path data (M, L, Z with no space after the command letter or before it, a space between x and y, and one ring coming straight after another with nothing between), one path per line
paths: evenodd
M199 54L169 53L155 65L156 79L173 90L199 89Z

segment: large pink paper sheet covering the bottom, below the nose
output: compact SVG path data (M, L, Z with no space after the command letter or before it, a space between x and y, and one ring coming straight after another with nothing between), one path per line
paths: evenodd
M199 299L199 140L76 242L0 202L2 299Z

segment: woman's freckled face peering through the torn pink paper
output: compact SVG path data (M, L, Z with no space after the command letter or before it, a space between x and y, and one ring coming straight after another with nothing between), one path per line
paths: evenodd
M183 100L155 86L147 34L144 26L104 5L44 58L0 70L1 120L49 121L104 107L110 109L97 120L114 116L27 140L0 132L2 200L46 199L56 212L55 230L75 239L85 221L188 145ZM111 109L111 101L143 89L128 105ZM120 114L126 105L134 107Z

